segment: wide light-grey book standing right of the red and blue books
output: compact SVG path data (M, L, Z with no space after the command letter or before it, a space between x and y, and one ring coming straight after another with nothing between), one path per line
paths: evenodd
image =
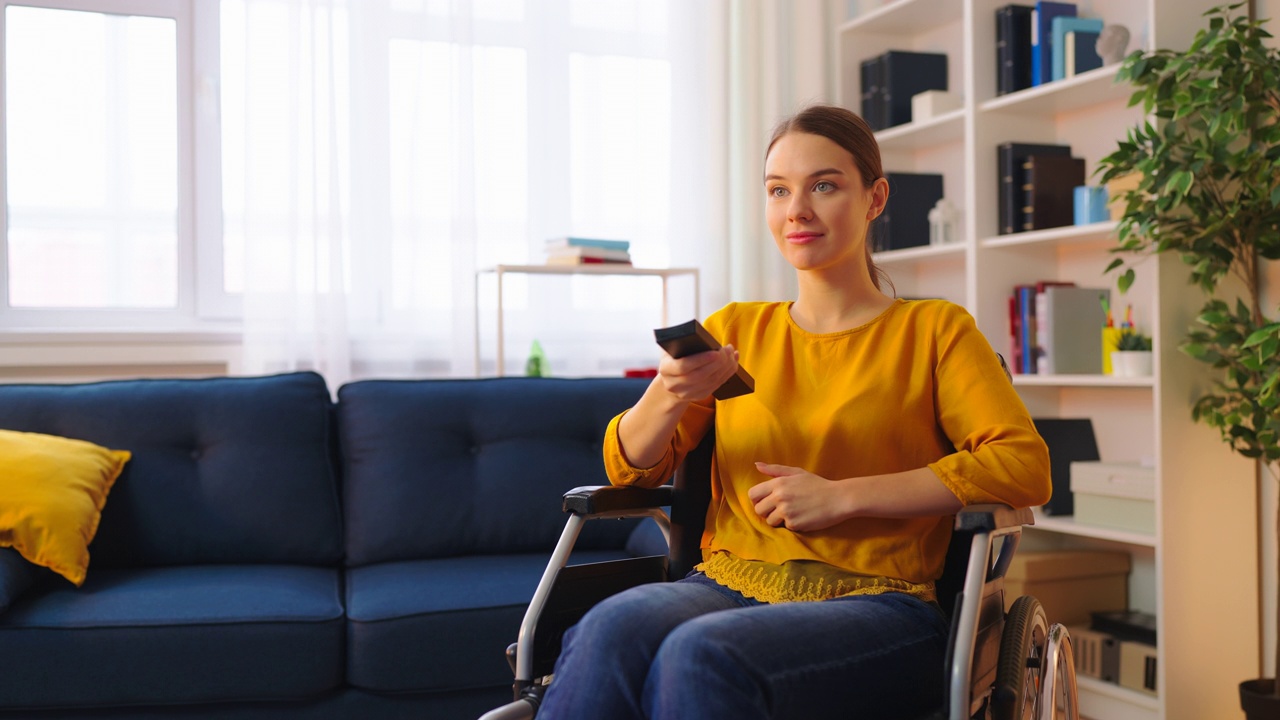
M1044 288L1046 356L1059 375L1102 373L1102 328L1107 323L1102 301L1111 291L1097 287L1048 286Z

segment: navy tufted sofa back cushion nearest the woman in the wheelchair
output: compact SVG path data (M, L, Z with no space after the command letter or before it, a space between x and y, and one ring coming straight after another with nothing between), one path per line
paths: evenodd
M608 484L611 418L648 380L361 380L338 391L348 565L543 552L561 496ZM576 547L622 548L635 521L588 523Z

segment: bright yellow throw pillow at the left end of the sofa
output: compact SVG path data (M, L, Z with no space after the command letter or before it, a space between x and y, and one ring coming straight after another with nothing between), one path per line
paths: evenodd
M106 493L129 457L82 439L0 430L0 547L83 584Z

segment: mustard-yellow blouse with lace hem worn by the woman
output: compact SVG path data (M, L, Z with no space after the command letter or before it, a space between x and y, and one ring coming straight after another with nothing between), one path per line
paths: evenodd
M767 602L884 591L933 596L951 518L855 518L818 532L774 528L748 489L754 462L828 479L931 468L964 505L1048 501L1048 450L995 351L960 306L896 300L874 320L810 333L790 302L730 304L704 323L737 348L755 392L707 398L680 420L663 459L632 466L605 430L613 484L659 486L712 421L716 457L699 569Z

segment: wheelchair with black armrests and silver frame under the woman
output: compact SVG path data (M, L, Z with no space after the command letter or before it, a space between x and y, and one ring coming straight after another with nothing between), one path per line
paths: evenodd
M685 577L701 560L699 547L710 498L714 432L689 454L672 484L658 488L579 487L564 495L568 521L552 553L517 642L507 648L516 675L515 700L480 720L534 717L550 683L561 638L600 600L640 583ZM667 515L664 509L669 507ZM653 518L668 555L568 565L588 520ZM918 720L1079 720L1071 639L1050 625L1039 601L1016 598L1006 612L1005 573L1030 510L975 505L955 518L938 602L951 607L946 702Z

